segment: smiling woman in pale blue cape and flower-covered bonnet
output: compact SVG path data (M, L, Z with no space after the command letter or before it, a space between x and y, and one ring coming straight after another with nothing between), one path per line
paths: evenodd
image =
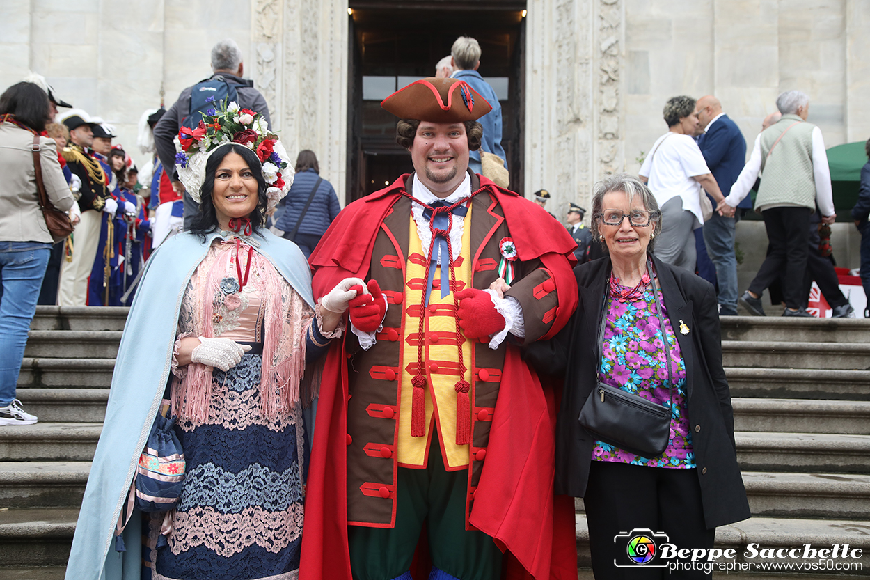
M312 428L304 407L317 395L314 364L341 334L351 299L371 306L371 295L355 298L351 286L362 280L345 279L314 303L303 254L264 229L292 179L284 147L262 115L234 103L212 112L207 130L179 132L177 170L199 213L190 232L165 241L145 266L117 354L70 580L298 575ZM171 433L152 431L166 428L158 415L165 404L183 468L178 454L160 455L151 443L162 438L175 447ZM165 472L154 467L161 456ZM180 471L177 505L143 513L175 499L157 491ZM115 550L112 536L123 540Z

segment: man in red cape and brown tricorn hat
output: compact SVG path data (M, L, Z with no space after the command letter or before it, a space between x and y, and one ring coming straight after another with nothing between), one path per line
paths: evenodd
M427 78L381 105L415 173L347 206L311 254L317 298L367 288L325 361L300 577L576 579L552 390L520 357L577 306L576 244L467 171L491 108L468 84Z

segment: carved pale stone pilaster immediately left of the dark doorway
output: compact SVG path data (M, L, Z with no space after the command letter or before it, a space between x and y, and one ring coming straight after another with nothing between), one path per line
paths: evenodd
M291 162L318 156L320 175L345 199L347 0L255 0L257 84L274 93L275 127ZM281 24L275 24L275 23ZM282 36L283 31L283 36Z

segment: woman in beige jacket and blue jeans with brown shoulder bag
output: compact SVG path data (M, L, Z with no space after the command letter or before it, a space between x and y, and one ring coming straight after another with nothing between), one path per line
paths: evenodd
M37 422L15 395L54 243L38 191L64 212L75 203L54 139L39 137L48 119L48 95L36 84L13 84L0 95L0 425Z

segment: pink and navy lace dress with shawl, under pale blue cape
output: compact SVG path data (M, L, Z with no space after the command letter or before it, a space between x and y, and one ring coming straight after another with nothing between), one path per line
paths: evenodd
M169 545L156 550L152 577L159 580L298 577L305 437L298 382L313 313L268 260L235 242L218 240L197 267L178 338L211 335L253 348L227 372L195 363L174 370L173 413L187 474ZM267 340L270 334L279 341ZM205 380L197 384L197 376ZM150 524L150 547L160 526Z

